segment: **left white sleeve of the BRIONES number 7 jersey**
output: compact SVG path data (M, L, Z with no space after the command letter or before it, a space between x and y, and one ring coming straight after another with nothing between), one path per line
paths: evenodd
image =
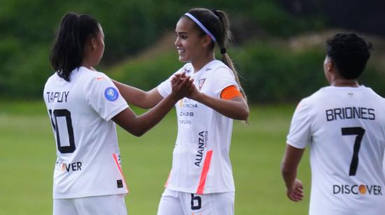
M295 109L287 137L287 144L304 149L311 141L311 117L309 105L302 100Z

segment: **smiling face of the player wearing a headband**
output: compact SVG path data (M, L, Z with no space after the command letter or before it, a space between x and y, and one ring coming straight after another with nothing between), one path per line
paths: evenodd
M176 23L175 46L178 50L179 61L191 62L199 61L204 56L202 52L207 50L204 45L204 36L195 27L195 23L187 17L181 17Z

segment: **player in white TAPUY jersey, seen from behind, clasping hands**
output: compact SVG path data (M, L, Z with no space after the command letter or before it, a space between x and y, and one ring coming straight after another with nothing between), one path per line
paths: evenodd
M63 17L50 55L56 73L43 94L57 143L54 215L127 214L114 121L142 135L194 87L188 77L174 77L171 94L137 117L109 77L94 70L103 52L97 20L75 13Z

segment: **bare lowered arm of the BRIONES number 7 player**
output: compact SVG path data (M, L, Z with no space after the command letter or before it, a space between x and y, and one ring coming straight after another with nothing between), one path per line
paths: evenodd
M297 179L297 168L300 164L304 149L286 145L285 155L281 163L281 174L286 184L286 195L294 202L303 198L302 181Z

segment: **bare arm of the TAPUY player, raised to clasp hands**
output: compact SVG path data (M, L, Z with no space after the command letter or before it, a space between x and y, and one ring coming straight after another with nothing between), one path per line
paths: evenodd
M184 80L179 79L172 84L172 94L169 94L169 96L160 101L160 103L151 110L148 110L148 112L138 117L130 107L127 107L127 109L113 117L113 121L129 133L141 136L158 124L172 107L174 107L175 103L186 96L191 87L193 87L193 80L189 78Z

